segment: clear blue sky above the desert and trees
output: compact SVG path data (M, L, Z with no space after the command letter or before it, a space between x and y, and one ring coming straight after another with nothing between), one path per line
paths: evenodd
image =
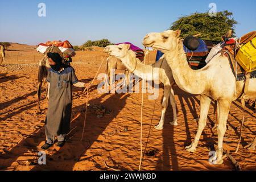
M46 3L46 17L39 18L38 4ZM256 30L255 0L1 0L0 42L36 45L47 40L69 40L81 45L86 40L107 38L113 43L131 42L142 47L148 32L167 30L183 15L229 10L239 22L238 36Z

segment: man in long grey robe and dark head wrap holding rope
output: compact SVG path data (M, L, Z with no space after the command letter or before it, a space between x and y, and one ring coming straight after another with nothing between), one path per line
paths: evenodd
M57 146L63 147L65 137L70 130L72 113L72 85L84 88L85 83L79 82L72 67L62 63L59 53L48 53L51 68L46 78L49 83L49 102L46 116L46 143L41 147L47 150L57 137Z

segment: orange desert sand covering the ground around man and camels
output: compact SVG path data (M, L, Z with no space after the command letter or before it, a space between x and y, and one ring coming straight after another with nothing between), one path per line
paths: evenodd
M138 170L140 156L140 111L141 94L98 94L96 82L89 97L90 104L103 105L113 110L110 115L97 118L88 110L84 140L81 142L85 115L85 95L74 89L72 131L63 148L52 147L46 152L47 165L37 164L38 151L44 143L44 118L47 112L45 93L42 97L42 114L36 114L36 89L38 60L35 46L13 44L7 51L6 67L0 67L0 169L4 170L108 170L109 166L121 170ZM94 77L105 56L97 51L79 51L73 67L81 81L89 82ZM148 57L153 60L154 54ZM17 65L16 65L17 64ZM101 69L105 72L105 66ZM43 89L45 91L45 89ZM143 156L142 170L233 170L229 159L224 164L208 163L209 149L216 146L217 132L212 130L213 106L210 107L207 127L201 136L197 152L190 154L184 147L191 143L197 130L200 115L200 97L184 93L175 87L179 126L171 126L172 109L169 106L163 131L154 129L160 118L160 101L147 100L143 108L143 151L154 150L155 155ZM242 110L239 102L230 109L230 130L224 138L224 148L240 163L243 170L256 169L256 151L247 151L242 146L255 136L255 110L246 109L245 127L238 154L236 149ZM127 127L127 131L124 129Z

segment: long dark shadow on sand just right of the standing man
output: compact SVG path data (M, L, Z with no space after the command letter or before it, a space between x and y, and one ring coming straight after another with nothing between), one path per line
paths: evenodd
M84 126L84 107L80 105L74 107L73 110L81 111L81 115L75 119L71 124L71 132L68 134L69 140L63 148L55 151L52 155L47 155L47 165L36 165L32 170L67 170L72 171L73 167L79 162L80 157L86 153L86 151L97 141L98 137L106 130L106 127L117 117L119 112L126 105L126 99L130 96L129 94L115 94L109 97L104 102L102 99L108 96L103 94L101 97L94 100L90 100L90 104L96 104L106 106L107 109L112 110L111 105L114 103L119 106L118 110L112 111L112 114L104 117L97 118L92 113L87 114L86 126L83 140L81 141L82 130ZM95 129L95 130L94 130ZM99 154L100 155L100 154ZM96 166L97 167L97 166ZM102 168L98 166L98 168Z

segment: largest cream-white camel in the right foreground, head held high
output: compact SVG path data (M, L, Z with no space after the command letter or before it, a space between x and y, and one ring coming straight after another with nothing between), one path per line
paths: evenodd
M189 152L196 152L201 133L206 123L211 98L218 102L218 146L217 159L214 164L222 164L223 138L226 132L230 105L243 95L245 81L236 81L230 68L228 57L218 53L202 69L193 70L189 67L187 57L180 39L181 31L167 30L164 32L150 33L144 37L145 47L152 47L162 51L170 65L174 80L180 89L191 94L201 96L200 119L195 139L185 149ZM247 93L243 98L256 97L256 79L251 78Z

